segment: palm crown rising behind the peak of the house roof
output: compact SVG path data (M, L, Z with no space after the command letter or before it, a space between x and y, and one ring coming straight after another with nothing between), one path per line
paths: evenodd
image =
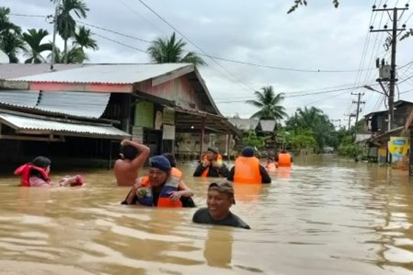
M207 65L195 52L184 55L187 45L182 39L176 40L175 32L170 38L158 38L152 41L147 52L153 63L192 63L193 65Z

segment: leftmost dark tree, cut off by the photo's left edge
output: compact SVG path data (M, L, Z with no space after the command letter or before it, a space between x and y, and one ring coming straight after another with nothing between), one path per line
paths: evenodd
M0 7L0 50L5 52L10 63L18 63L17 54L24 49L21 28L10 22L10 8Z

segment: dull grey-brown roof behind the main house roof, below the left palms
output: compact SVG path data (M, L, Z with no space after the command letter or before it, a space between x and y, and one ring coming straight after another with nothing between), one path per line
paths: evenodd
M55 71L65 71L67 69L75 69L80 67L90 66L87 64L55 64ZM45 74L50 72L50 64L1 64L0 79L19 78L23 76L32 76L34 74Z

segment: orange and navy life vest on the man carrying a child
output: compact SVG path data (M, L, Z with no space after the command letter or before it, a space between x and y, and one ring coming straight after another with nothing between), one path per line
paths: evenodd
M181 201L172 201L169 199L171 192L178 191L179 183L182 179L182 172L177 168L173 167L171 169L171 175L168 177L165 184L160 189L159 197L158 197L158 207L169 207L169 208L176 208L182 207ZM151 187L151 182L149 177L141 177L139 179L140 184L142 184L141 188L145 188L144 194L140 191L141 188L138 189L136 195L138 195L138 202L144 206L153 206L153 191ZM141 195L142 194L142 195Z

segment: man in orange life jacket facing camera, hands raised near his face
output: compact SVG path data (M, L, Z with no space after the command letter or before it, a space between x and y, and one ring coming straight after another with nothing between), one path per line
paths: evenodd
M218 148L208 148L207 155L202 157L193 177L228 177L228 167L222 161Z

